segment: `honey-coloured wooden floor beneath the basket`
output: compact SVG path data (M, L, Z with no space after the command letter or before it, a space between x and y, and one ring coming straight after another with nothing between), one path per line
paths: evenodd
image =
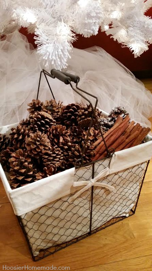
M152 79L144 80L144 84L152 91ZM152 270L152 161L135 215L39 262L31 260L24 235L1 182L0 206L0 270L3 270L3 265L53 265L63 267L62 270L70 267L72 271Z

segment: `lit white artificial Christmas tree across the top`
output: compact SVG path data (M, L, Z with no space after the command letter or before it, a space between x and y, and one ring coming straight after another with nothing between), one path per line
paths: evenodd
M28 27L43 64L56 69L67 66L75 33L90 37L99 28L137 57L152 43L150 7L152 0L1 0L0 34Z

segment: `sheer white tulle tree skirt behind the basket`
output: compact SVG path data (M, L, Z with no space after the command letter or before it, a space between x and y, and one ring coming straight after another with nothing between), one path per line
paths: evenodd
M40 70L38 55L18 31L0 41L0 125L12 124L27 117L27 103L36 99ZM152 94L119 61L99 47L73 49L66 71L80 76L79 87L98 97L98 107L109 112L121 105L133 120L151 126ZM81 97L69 85L49 78L55 99L65 104ZM39 99L51 99L43 77ZM94 103L94 100L92 99Z

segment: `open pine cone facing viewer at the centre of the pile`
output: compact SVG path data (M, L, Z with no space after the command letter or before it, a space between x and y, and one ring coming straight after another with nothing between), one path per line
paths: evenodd
M52 145L61 147L70 142L70 130L66 130L66 127L62 125L53 125L48 129L47 135Z

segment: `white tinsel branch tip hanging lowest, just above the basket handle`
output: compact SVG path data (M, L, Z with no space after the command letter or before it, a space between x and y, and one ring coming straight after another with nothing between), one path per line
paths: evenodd
M56 23L54 21L51 34L50 28L44 24L36 29L35 34L35 43L38 45L37 52L40 54L43 65L50 67L52 64L57 70L67 67L72 42L75 39L71 28L64 22Z

